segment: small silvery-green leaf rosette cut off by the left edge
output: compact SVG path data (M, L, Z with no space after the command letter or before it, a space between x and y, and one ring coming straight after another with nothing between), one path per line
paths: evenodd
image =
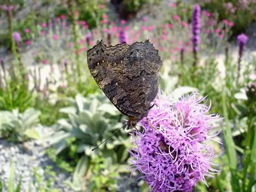
M0 111L1 125L0 137L6 138L8 141L24 142L29 139L39 139L39 133L35 130L35 126L39 123L40 111L34 108L19 113L18 109L10 111Z

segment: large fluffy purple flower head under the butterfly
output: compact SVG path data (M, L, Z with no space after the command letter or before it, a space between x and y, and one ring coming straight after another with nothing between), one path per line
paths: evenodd
M132 167L139 170L153 191L191 191L198 181L218 170L211 168L214 149L207 133L218 115L198 94L172 102L159 93L155 106L140 122L136 148L130 150Z

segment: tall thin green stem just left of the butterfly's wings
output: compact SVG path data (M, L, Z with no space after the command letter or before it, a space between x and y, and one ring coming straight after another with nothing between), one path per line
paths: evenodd
M73 0L68 0L68 7L71 11L71 25L72 25L72 31L74 35L74 46L75 46L75 54L76 54L76 65L77 65L77 76L78 76L78 90L81 88L81 67L80 67L80 59L79 59L79 46L78 46L78 35L76 31L76 21L75 21L75 10L73 5Z

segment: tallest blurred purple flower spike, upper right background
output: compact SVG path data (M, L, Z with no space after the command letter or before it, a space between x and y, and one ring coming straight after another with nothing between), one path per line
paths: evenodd
M200 43L200 5L196 4L193 8L193 15L192 15L192 42L193 42L193 50L198 52L199 51L199 43Z

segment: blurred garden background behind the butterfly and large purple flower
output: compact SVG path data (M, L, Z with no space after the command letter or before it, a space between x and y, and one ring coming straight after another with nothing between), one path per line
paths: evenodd
M208 133L219 171L194 191L256 191L255 0L0 0L0 191L149 191L132 130L92 152L127 119L87 66L101 39L150 39L161 90L223 117Z

